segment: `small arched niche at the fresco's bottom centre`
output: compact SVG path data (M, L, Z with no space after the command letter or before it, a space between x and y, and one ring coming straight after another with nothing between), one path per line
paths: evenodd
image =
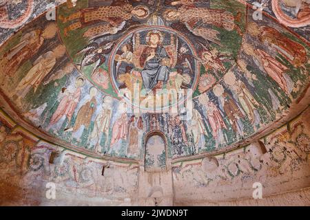
M145 136L146 172L161 172L167 170L167 140L161 131L152 131Z

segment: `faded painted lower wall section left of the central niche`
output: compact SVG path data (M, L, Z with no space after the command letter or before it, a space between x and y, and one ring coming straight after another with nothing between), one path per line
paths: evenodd
M30 135L1 112L0 143L1 206L65 206L68 197L76 206L125 206L136 192L137 164L65 151ZM57 189L53 201L45 197L48 183Z

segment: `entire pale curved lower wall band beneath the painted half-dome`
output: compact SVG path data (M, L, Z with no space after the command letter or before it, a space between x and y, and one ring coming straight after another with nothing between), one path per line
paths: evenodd
M309 206L309 115L238 150L147 173L143 161L96 159L39 140L1 112L0 204ZM257 183L262 199L253 198Z

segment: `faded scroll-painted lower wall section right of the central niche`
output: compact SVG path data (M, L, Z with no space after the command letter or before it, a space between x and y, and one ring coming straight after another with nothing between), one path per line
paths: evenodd
M242 201L253 192L254 182L262 184L265 195L274 195L279 189L287 192L309 187L309 139L308 110L307 114L238 151L173 164L178 205L198 204L196 201L205 201L204 205L208 206L268 205L251 199ZM235 200L237 191L238 200ZM309 191L304 195L304 204L309 205ZM275 197L273 203L291 206L302 197L284 198L285 195Z

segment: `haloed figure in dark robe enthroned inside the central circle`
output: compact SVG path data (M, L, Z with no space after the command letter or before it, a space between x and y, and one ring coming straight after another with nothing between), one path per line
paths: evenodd
M163 34L158 31L151 31L147 34L148 47L145 48L140 58L140 65L144 67L141 72L143 85L147 91L154 87L162 88L169 80L169 67L163 65L164 59L169 60L165 47L163 47Z

